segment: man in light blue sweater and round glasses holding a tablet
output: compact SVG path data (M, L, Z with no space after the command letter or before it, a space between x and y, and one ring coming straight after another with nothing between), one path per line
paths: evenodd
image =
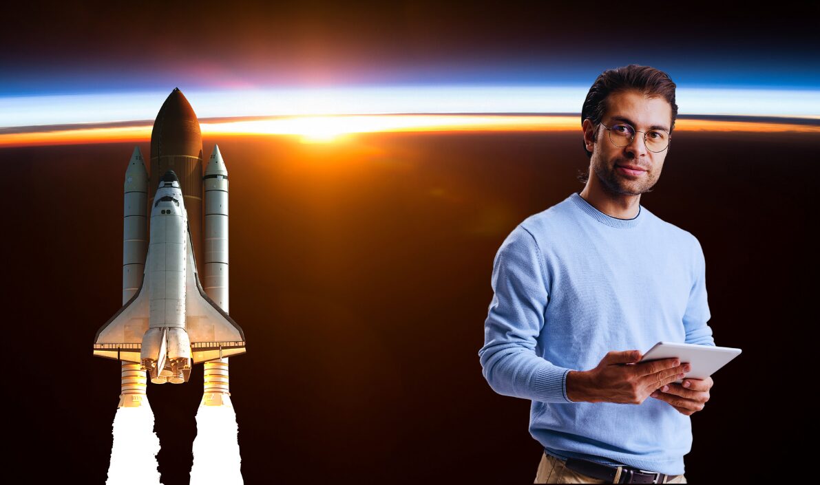
M479 356L495 392L532 401L536 483L686 483L690 415L713 380L674 383L690 369L676 359L637 363L662 340L714 345L697 238L640 206L676 116L662 71L599 75L581 111L585 188L495 256Z

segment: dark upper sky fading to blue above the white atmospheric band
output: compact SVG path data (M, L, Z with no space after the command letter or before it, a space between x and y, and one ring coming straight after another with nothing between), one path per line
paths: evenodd
M16 2L0 94L561 84L638 63L684 84L813 86L818 7L686 2ZM9 48L11 46L11 48Z

